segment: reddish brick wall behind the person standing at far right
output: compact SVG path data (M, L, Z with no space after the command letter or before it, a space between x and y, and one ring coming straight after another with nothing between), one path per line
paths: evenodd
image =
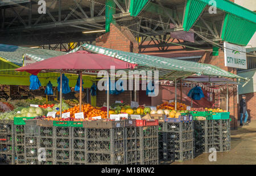
M247 112L249 114L248 120L256 120L256 92L255 93L247 93L244 94L246 95L246 107L247 107ZM239 95L239 101L241 100L242 95ZM240 107L238 106L238 114ZM240 119L240 116L239 116Z

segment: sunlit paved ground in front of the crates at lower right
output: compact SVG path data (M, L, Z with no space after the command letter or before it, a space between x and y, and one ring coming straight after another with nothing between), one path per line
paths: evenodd
M174 165L255 165L256 164L256 120L250 125L231 131L230 152L217 153L217 161L210 162L209 154L201 154L193 160L174 162Z

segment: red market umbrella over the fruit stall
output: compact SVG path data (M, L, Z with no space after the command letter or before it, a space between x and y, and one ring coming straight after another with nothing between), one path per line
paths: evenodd
M110 66L115 66L115 69L134 69L136 65L110 56L77 51L51 57L15 70L37 75L41 70L106 70L110 69Z

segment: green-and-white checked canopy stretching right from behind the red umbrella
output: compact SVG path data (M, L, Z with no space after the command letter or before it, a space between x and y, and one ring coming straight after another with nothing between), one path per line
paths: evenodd
M97 47L90 44L83 44L76 49L73 49L71 52L78 51L81 47L84 47L86 50L94 53L100 53L106 56L112 56L123 61L127 61L133 64L138 64L138 70L159 70L159 78L162 79L177 79L182 77L191 76L193 74L205 75L205 76L220 76L227 78L238 78L247 81L247 78L237 76L226 72L218 68L217 66L202 64L197 62L181 61L172 58L166 57L157 57L150 55L142 55L138 53L130 53L124 51L118 51L109 48Z

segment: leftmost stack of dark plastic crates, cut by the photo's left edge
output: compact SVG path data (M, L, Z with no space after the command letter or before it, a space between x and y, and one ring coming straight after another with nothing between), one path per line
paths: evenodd
M13 120L0 120L0 162L15 163L15 140Z

